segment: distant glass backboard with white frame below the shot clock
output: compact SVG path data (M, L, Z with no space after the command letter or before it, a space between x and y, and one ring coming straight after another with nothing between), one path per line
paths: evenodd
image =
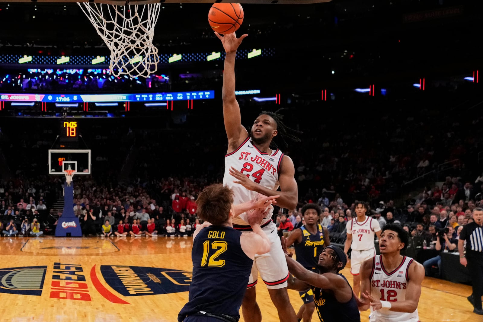
M64 175L64 170L75 175L91 174L91 150L49 150L49 174Z

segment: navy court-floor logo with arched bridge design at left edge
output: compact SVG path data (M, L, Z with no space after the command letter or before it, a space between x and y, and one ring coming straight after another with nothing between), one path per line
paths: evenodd
M42 295L47 266L0 268L0 293Z

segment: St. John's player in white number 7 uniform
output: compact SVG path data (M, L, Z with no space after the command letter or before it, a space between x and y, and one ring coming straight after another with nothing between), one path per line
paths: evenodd
M376 254L374 246L374 234L381 238L381 226L377 220L367 216L369 205L362 201L355 201L355 213L357 217L347 223L347 239L345 240L344 252L351 252L351 274L354 277L352 288L356 296L359 296L360 276L359 269L366 259Z

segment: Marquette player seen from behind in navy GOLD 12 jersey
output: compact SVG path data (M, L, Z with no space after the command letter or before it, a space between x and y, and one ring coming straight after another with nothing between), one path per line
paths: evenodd
M189 301L178 315L179 322L237 322L246 284L256 253L270 251L270 240L260 228L271 197L258 197L232 207L233 191L227 186L206 187L196 203L198 216L205 222L193 234L193 281ZM263 207L263 208L260 208ZM256 208L254 211L248 211ZM231 219L248 211L253 233L232 228Z

